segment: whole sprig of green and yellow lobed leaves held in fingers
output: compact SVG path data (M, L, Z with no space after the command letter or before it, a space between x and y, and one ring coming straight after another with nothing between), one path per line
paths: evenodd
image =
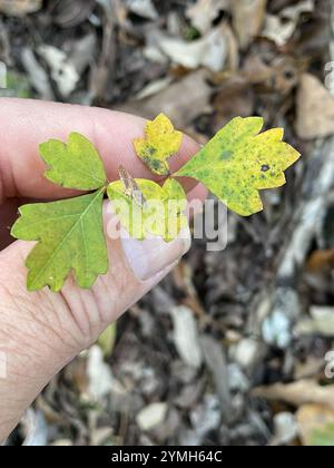
M26 262L28 290L49 286L58 292L71 272L80 287L89 289L98 275L107 273L102 222L106 194L122 226L139 240L154 235L170 242L187 225L186 194L178 182L181 177L203 183L239 215L263 209L259 191L282 186L284 170L299 157L283 142L282 129L261 133L263 125L259 117L233 119L193 159L170 174L168 160L179 152L183 134L159 115L147 123L145 136L136 138L134 147L154 174L165 177L163 185L134 179L122 167L120 179L109 183L99 153L80 134L70 134L67 144L56 139L41 144L46 178L88 194L20 208L12 236L38 242ZM156 207L157 201L160 208Z

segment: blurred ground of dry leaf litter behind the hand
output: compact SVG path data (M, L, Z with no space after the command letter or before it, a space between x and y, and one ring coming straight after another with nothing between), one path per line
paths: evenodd
M259 115L303 155L263 213L229 214L224 252L196 241L55 378L9 443L334 446L332 9L0 0L1 96L164 111L199 143Z

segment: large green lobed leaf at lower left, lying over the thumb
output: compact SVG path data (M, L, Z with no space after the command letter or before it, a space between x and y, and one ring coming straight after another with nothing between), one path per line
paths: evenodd
M24 205L11 235L38 241L27 259L28 290L49 285L60 291L73 270L78 284L89 289L99 274L108 271L102 227L105 189L78 198Z

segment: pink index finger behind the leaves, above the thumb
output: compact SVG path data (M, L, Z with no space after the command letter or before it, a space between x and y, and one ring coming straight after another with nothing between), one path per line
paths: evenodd
M136 156L132 140L144 134L145 119L100 108L37 100L0 98L0 203L6 197L60 198L77 192L51 184L43 177L46 165L39 156L41 143L67 140L71 131L85 135L99 150L110 181L118 178L122 164L135 177L153 178ZM175 172L198 150L185 136L171 158ZM190 183L194 187L194 183Z

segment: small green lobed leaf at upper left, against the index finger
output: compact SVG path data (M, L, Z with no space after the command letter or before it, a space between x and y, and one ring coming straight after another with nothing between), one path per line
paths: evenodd
M70 134L67 145L58 139L43 143L40 154L48 165L45 176L55 184L79 191L95 191L106 185L101 158L80 134Z

